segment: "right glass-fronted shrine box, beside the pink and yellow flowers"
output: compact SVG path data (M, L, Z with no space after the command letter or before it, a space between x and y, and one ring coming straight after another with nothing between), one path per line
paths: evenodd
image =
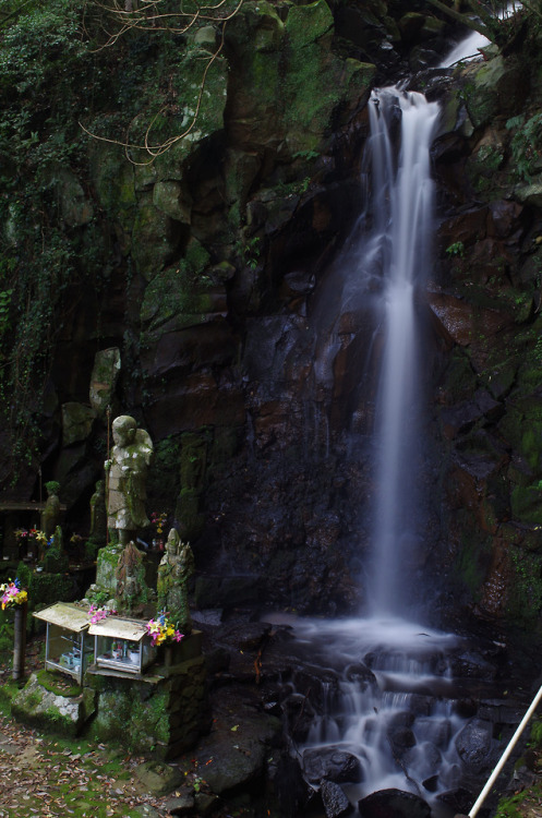
M108 616L91 625L96 670L142 674L156 658L145 623Z

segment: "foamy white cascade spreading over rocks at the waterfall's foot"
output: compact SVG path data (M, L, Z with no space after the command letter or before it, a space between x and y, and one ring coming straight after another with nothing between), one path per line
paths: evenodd
M461 646L459 637L400 617L279 621L292 625L301 646L310 646L314 666L337 673L336 684L327 683L323 712L297 750L335 747L356 756L361 781L344 785L352 804L388 787L431 802L457 785L455 738L465 720L454 712L446 654ZM413 744L399 762L392 739L402 717ZM429 792L423 782L435 775Z

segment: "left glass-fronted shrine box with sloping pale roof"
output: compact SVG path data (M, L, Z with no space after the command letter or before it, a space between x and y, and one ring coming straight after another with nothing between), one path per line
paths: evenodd
M81 685L87 667L94 661L94 640L88 635L91 621L86 609L69 602L57 602L34 613L47 624L45 666L62 671Z

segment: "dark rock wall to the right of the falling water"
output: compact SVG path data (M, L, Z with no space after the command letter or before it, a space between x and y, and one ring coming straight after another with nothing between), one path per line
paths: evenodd
M441 261L427 296L445 361L441 554L477 615L530 629L542 602L542 145L526 137L541 104L537 60L526 56L455 72L435 144Z

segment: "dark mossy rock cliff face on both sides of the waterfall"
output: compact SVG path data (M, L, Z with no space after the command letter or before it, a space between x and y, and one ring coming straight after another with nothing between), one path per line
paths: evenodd
M49 73L31 91L20 82L8 108L20 153L5 140L1 153L5 494L35 494L40 466L85 533L110 406L155 442L148 510L168 513L191 540L200 604L333 613L359 603L371 503L371 384L360 392L356 363L365 322L363 310L342 317L327 369L318 322L333 312L335 262L363 204L370 89L434 64L449 38L423 5L245 2L212 62L217 27L159 46L152 29L132 33L113 56L73 55L81 83L65 85L69 103L47 96L67 71L47 40ZM4 49L27 41L24 26ZM528 71L517 52L487 57L433 92L444 116L426 434L444 469L434 466L442 491L411 568L446 575L443 586L483 616L535 625L538 63ZM100 139L81 141L74 110ZM135 144L147 128L157 156L116 144ZM32 206L31 177L40 196ZM21 269L26 290L12 284ZM34 351L15 333L41 327L28 299L49 305ZM28 372L17 392L21 359ZM25 454L15 483L14 444Z

